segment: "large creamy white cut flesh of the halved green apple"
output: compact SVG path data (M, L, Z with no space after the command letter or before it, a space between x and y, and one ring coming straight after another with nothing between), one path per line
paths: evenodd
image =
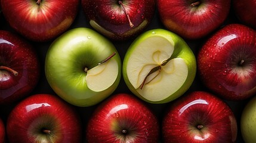
M127 63L129 82L144 98L150 101L161 101L174 94L187 79L188 67L182 58L173 58L165 66L174 51L174 42L161 36L152 36L139 43L132 51ZM147 77L145 85L141 83L154 67L161 66Z

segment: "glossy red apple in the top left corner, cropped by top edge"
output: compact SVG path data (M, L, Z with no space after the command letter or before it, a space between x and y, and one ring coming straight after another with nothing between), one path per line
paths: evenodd
M10 26L37 42L50 41L67 30L78 13L79 0L36 1L2 0L2 12Z

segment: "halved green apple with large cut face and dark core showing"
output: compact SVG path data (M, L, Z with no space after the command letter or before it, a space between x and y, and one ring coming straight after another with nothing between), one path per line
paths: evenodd
M123 63L128 88L147 102L165 103L184 94L196 75L196 58L175 33L153 29L129 46Z

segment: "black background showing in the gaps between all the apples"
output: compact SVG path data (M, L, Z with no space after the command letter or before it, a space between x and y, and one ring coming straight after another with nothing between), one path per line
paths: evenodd
M236 18L235 14L233 13L232 8L230 10L229 17L227 17L226 21L223 23L222 26L224 26L226 24L229 24L229 23L239 23L238 19ZM89 24L89 21L86 20L86 18L85 18L85 15L82 11L81 5L79 7L79 13L76 16L75 21L73 22L72 26L69 29L73 29L73 28L76 28L76 27L92 28ZM158 28L165 29L165 27L162 25L161 21L159 20L158 11L155 10L153 20L151 21L149 26L144 31L150 30L150 29L158 29ZM0 30L9 30L11 32L14 32L13 29L11 29L10 26L8 26L8 23L7 23L7 21L5 21L2 14L0 16ZM216 30L218 30L218 29L216 29ZM212 33L214 33L214 32L212 32ZM194 41L186 40L186 42L188 43L190 48L192 48L192 51L194 52L194 54L196 56L198 55L198 51L201 48L201 46L203 45L203 43L206 41L206 39L209 38L209 36L211 36L211 34L206 36L205 38L194 40ZM122 42L112 41L114 43L114 45L116 46L116 49L119 51L119 54L120 54L122 60L124 59L125 52L127 51L129 45L131 45L132 41L134 41L134 39L129 39L128 41L122 41ZM50 85L48 85L48 82L47 82L47 79L46 79L45 73L44 73L45 55L47 53L48 47L50 46L50 44L53 41L50 41L50 42L32 42L32 41L29 41L29 42L32 43L32 45L35 46L35 49L38 52L39 60L40 60L40 63L41 63L41 77L39 79L39 83L30 95L33 95L33 94L53 94L53 95L56 95L54 93L54 91L50 88ZM193 82L190 89L187 91L187 93L192 92L192 91L207 91L207 92L210 92L210 91L208 91L208 89L206 89L202 85L198 74L196 75L196 79ZM118 94L118 93L131 94L127 85L125 85L124 79L121 79L121 82L120 82L118 88L116 89L116 91L113 94ZM186 96L186 95L184 95L184 96ZM244 101L226 101L227 104L230 105L233 112L235 113L235 116L236 116L236 119L237 119L237 122L238 122L238 139L237 139L237 142L243 142L242 136L240 134L240 127L239 127L240 126L240 116L241 116L243 107L248 102L248 100L244 100ZM11 105L5 105L4 107L0 106L0 117L4 120L4 122L6 122L8 114L10 113L10 111L13 109L13 107L16 104L17 104L17 102L14 103L14 104L11 104ZM145 102L145 104L149 105L149 107L152 109L152 111L158 117L159 123L161 123L161 120L162 120L162 117L164 116L166 108L168 108L169 105L172 104L172 102L169 102L169 103L166 103L166 104L149 104L149 103ZM92 112L95 110L95 108L98 105L99 104L94 105L92 107L74 107L79 111L79 113L81 115L82 122L84 123L83 124L84 130L85 130L85 126L88 122L88 119L90 118ZM162 139L160 139L159 142L162 142Z

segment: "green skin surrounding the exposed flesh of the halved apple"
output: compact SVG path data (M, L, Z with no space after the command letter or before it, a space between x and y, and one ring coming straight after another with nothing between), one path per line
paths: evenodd
M129 79L127 76L127 70L126 70L129 56L132 54L132 52L134 52L134 49L137 47L139 43L149 38L150 36L161 36L162 38L165 38L168 41L173 41L175 43L175 46L174 46L174 52L172 54L172 58L183 58L183 60L186 62L188 67L188 76L184 84L181 86L181 88L178 89L174 94L169 95L168 98L165 98L160 101L150 101L144 98L142 95L140 95L136 91L136 89L132 86L131 82L129 82ZM123 69L122 73L123 73L125 83L127 84L129 90L133 94L137 95L137 97L141 98L141 100L144 100L146 102L150 102L153 104L163 104L163 103L170 102L177 99L190 88L196 76L196 58L195 58L195 55L193 54L192 49L190 49L189 45L187 45L184 39L182 39L180 36L164 29L152 29L152 30L148 30L147 32L144 32L143 34L138 36L138 38L135 39L134 42L131 43L131 45L127 50L127 53L125 54L122 69Z

